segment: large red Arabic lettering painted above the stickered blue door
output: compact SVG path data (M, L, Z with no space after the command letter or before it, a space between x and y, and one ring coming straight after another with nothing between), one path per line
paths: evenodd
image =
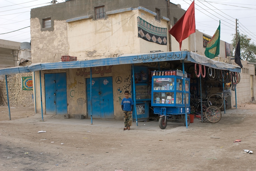
M92 67L92 74L100 74L101 76L103 76L104 74L111 73L112 66L113 65ZM87 72L86 68L77 69L76 75L80 75L80 76L84 75L85 77L87 77L88 75L90 75L90 69L88 70L89 71Z

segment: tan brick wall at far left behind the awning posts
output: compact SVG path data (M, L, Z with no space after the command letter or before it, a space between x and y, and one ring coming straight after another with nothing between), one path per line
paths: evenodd
M30 65L30 64L31 62L29 61L29 62L26 62L24 65ZM34 105L33 90L22 90L21 77L29 77L29 76L32 76L31 72L16 74L13 77L7 78L10 105ZM3 79L0 80L0 92L2 93L4 97L4 101L7 104L8 101L7 101L5 77L3 77ZM4 101L2 97L0 98L1 98L0 105L4 105Z

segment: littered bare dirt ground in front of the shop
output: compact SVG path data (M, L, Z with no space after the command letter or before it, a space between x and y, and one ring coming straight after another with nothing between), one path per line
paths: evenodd
M0 170L256 170L255 103L227 110L218 123L168 122L164 130L50 124L33 106L10 110L11 120L0 106Z

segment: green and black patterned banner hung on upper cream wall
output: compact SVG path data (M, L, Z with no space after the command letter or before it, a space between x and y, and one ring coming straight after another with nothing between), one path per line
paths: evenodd
M153 26L140 17L137 17L137 26L138 37L146 41L167 45L167 28Z

